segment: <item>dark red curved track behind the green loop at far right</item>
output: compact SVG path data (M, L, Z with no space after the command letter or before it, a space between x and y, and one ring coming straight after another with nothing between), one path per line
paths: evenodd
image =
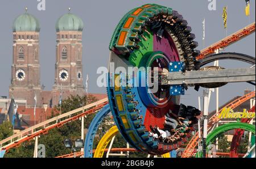
M248 112L255 112L255 105ZM253 119L242 119L241 122L249 123L251 120L253 120ZM240 145L240 141L241 141L243 132L245 132L245 130L242 130L242 129L235 130L235 134L232 138L232 142L231 142L231 146L230 146L230 158L238 157L237 149L238 149L238 146Z

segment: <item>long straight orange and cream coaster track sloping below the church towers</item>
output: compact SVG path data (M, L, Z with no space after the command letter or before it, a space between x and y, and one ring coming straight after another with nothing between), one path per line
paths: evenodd
M10 136L5 140L0 141L0 148L1 150L6 150L6 153L8 153L9 149L19 146L20 143L23 143L24 141L30 141L36 136L39 136L41 134L47 134L48 131L53 128L60 128L68 122L75 121L80 117L84 117L85 115L90 115L94 112L97 112L106 104L108 104L108 98L99 100L92 104L85 105L84 107L77 108L73 111L64 113L63 115L59 115L53 117L52 119L36 124L28 129L23 130L22 132L14 134L13 136ZM82 112L85 109L89 110ZM79 114L76 115L76 113Z

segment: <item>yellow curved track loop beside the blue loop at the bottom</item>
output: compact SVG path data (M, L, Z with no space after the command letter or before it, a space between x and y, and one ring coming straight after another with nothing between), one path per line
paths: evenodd
M113 126L109 129L109 131L101 138L100 142L97 145L96 151L93 155L93 158L102 158L104 152L106 151L106 147L112 138L118 133L118 127ZM163 158L171 158L170 153L166 153L162 155Z

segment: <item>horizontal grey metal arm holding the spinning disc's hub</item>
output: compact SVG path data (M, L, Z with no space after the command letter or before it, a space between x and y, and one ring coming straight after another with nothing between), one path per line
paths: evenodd
M221 69L221 70L198 70L182 72L171 72L167 75L167 81L163 79L163 85L178 85L206 83L232 83L255 81L255 67L239 69Z

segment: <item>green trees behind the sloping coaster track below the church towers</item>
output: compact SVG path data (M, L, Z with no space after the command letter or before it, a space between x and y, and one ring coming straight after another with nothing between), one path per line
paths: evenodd
M82 107L82 105L86 105L87 103L93 103L96 102L97 99L92 96L88 95L86 96L70 96L69 98L63 100L61 104L61 112L69 112L72 111L73 109L77 109ZM55 111L59 110L59 105L55 107ZM51 117L52 118L56 115L52 112ZM79 112L81 113L81 112ZM79 114L76 113L76 114ZM90 122L92 121L94 115L88 115L87 118L85 119L85 128L88 128L90 125ZM2 129L0 128L0 133L3 133L2 135L0 134L0 138L2 137L9 137L13 133L10 133L9 130L10 128L9 125L5 125L4 130L5 132L2 132ZM11 125L11 131L12 131L12 125ZM71 140L76 140L81 138L81 121L76 120L69 122L61 128L54 128L52 130L49 130L49 132L45 135L42 135L38 138L38 143L43 144L46 146L46 157L47 158L53 158L59 155L64 155L64 154L69 154L71 153L70 149L65 148L63 141L65 139L71 139ZM5 157L33 157L34 155L34 146L35 146L35 141L30 141L30 142L24 142L22 143L19 147L13 148L9 150L9 153L5 155Z

